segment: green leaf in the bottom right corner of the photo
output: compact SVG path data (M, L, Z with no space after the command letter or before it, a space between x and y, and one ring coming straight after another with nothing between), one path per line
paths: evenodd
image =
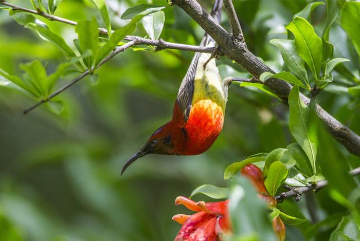
M330 241L359 240L360 231L351 215L344 216L337 228L331 233Z

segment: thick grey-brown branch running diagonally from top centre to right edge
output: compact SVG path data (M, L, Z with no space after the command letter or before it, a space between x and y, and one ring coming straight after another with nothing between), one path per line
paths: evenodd
M195 20L210 36L218 43L225 56L242 65L251 75L259 78L263 72L274 71L260 61L251 53L246 45L222 28L195 0L173 0L173 4L181 7ZM265 82L275 94L287 104L292 86L282 80L271 78ZM301 95L302 100L309 104L310 100ZM346 149L357 156L360 156L360 137L351 131L347 126L340 123L319 105L316 106L317 115L325 123L331 135L343 144Z

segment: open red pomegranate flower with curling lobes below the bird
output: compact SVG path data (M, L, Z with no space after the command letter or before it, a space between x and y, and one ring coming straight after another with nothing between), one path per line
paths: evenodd
M175 205L184 205L196 213L177 214L172 220L183 225L175 241L217 241L224 233L231 231L228 215L229 200L219 202L195 202L179 196Z

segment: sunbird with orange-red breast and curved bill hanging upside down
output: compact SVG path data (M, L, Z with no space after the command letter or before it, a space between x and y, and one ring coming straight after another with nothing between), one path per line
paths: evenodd
M215 0L210 15L221 21L222 0ZM205 33L200 46L215 47ZM198 155L210 148L222 131L227 90L231 81L222 81L210 53L196 52L181 83L172 119L160 126L123 166L123 172L147 154ZM228 79L228 78L227 78Z

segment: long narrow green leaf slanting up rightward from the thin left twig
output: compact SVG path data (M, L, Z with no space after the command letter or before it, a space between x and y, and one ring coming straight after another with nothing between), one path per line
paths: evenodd
M126 35L131 34L135 30L136 21L131 21L129 24L123 26L120 29L117 29L110 37L110 40L107 41L102 48L99 50L99 54L97 56L96 64L98 65L101 60L103 60L107 54L115 49L118 43L125 38Z

